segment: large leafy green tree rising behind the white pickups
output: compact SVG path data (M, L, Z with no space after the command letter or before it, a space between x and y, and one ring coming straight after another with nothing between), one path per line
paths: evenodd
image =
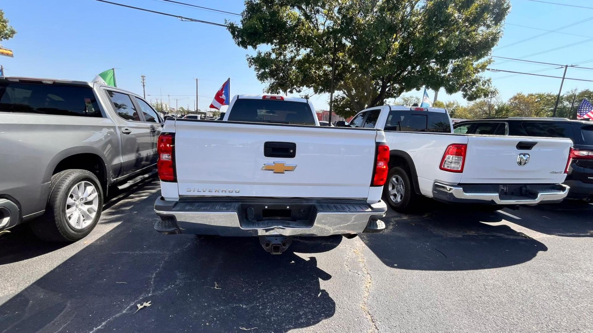
M508 0L246 0L241 25L228 23L266 91L338 92L351 116L426 86L467 100L494 90L480 76L502 36ZM263 50L262 50L263 49Z

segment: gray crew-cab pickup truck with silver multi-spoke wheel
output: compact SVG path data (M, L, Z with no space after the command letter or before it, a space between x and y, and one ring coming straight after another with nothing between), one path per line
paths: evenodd
M87 236L109 188L155 168L162 122L119 88L0 76L0 230Z

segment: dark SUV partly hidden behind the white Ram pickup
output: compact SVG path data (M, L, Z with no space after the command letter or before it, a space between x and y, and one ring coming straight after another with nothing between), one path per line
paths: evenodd
M573 150L565 181L568 197L593 200L593 121L509 117L461 121L453 129L458 134L569 137Z

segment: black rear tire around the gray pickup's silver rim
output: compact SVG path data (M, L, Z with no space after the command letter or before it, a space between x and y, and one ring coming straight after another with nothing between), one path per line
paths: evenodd
M66 218L66 200L74 185L88 181L95 187L98 194L98 209L94 219L84 228L73 228ZM103 210L103 189L101 183L92 172L82 169L68 169L52 176L49 187L49 198L46 211L39 219L30 223L33 233L43 241L75 242L87 236L101 217Z

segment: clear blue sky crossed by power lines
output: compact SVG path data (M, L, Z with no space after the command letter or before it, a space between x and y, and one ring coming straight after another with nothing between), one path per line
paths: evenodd
M239 21L239 17L174 5L160 0L111 0L136 7L224 23L225 18ZM550 0L563 4L593 7L589 0ZM181 0L229 12L241 12L240 0ZM554 30L593 18L593 9L543 4L527 0L513 0L511 14L506 19L505 34L499 46L544 33L527 27ZM245 56L249 50L236 46L230 34L222 27L183 22L149 12L104 4L94 0L2 0L10 24L18 31L14 39L4 46L14 50L15 57L0 57L8 76L35 76L90 81L97 73L116 68L119 87L142 94L140 75L146 75L147 99L163 98L174 107L187 107L195 100L199 78L199 107L206 108L221 84L231 78L231 94L260 94L264 85L257 81L253 69L247 66ZM563 33L593 38L593 19L565 28ZM522 57L532 53L587 40L587 37L550 33L514 46L493 51L493 55ZM591 39L591 38L589 38ZM550 63L577 63L593 60L593 40L553 52L525 59ZM593 61L582 66L593 68ZM507 71L530 72L546 69L529 63L496 60L492 68ZM562 69L541 72L562 76ZM569 68L567 77L593 79L593 71ZM500 97L508 99L516 92L553 92L556 94L560 79L508 73L485 73L492 77ZM571 88L593 89L593 82L565 81L563 91ZM407 94L421 97L422 91ZM431 99L433 92L429 91ZM184 98L184 99L182 99ZM313 98L315 108L327 108L328 97ZM461 94L446 95L441 91L439 100L457 100L464 104Z

